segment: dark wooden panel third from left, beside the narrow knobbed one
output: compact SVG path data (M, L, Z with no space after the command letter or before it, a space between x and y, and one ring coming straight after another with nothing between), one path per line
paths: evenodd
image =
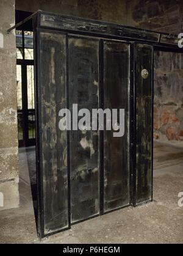
M104 109L124 109L123 137L104 131L104 212L129 205L129 45L104 42Z

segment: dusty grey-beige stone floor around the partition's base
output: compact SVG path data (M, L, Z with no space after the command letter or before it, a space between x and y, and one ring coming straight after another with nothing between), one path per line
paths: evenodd
M0 212L0 243L183 243L183 207L178 206L183 148L155 144L154 202L73 225L41 241L35 229L26 152L20 158L20 208Z

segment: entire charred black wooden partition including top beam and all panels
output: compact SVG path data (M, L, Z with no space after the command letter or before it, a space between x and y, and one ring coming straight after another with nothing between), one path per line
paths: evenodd
M153 51L155 46L178 51L178 38L56 13L38 11L30 18L38 234L48 236L100 214L151 202ZM125 109L124 136L106 130L60 131L59 111L73 112L73 104L90 111Z

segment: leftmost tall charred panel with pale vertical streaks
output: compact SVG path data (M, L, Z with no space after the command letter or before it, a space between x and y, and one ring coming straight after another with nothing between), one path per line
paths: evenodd
M68 227L66 132L59 130L59 111L66 108L65 45L65 35L40 33L38 147L45 235Z

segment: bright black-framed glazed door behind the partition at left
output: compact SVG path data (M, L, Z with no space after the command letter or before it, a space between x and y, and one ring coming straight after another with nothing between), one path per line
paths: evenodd
M16 30L16 85L18 145L35 146L35 95L33 32Z

